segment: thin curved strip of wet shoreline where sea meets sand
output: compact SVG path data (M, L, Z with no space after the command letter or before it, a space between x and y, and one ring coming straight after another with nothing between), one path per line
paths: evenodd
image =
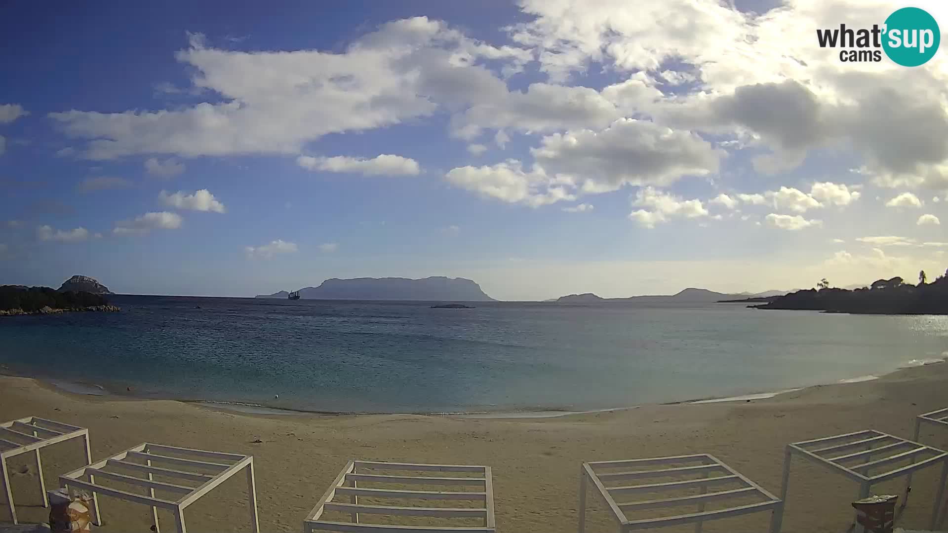
M809 385L799 385L793 386L785 389L780 389L777 391L754 391L738 394L728 394L728 395L713 395L705 396L698 398L686 398L682 400L673 400L666 402L644 402L637 405L629 406L618 406L610 408L600 408L600 409L589 409L589 410L569 410L556 407L535 407L535 408L520 408L513 410L497 410L490 411L485 409L473 409L470 411L450 411L450 412L439 412L439 411L417 411L417 412L361 412L361 411L323 411L323 410L307 410L307 409L293 409L287 407L273 407L263 403L253 403L246 401L224 401L224 400L210 400L204 398L177 398L173 396L149 396L149 395L135 395L133 394L120 394L115 391L110 391L105 387L97 383L88 383L83 381L68 381L60 378L52 377L37 377L29 375L19 375L11 374L6 372L6 369L0 369L0 376L10 376L10 377L25 377L29 379L34 379L38 383L45 384L55 390L64 391L70 394L75 395L89 395L89 396L101 396L108 398L116 399L125 399L125 400L138 400L138 401L148 401L148 400L163 400L163 401L176 401L187 405L197 405L205 409L210 409L214 411L220 411L224 413L232 414L264 414L264 415L275 415L275 416L295 416L295 415L304 415L304 414L313 414L313 415L324 415L324 416L345 416L345 415L356 415L356 416L369 416L376 414L390 414L390 415L416 415L416 416L447 416L447 417L460 417L466 419L505 419L505 418L557 418L562 416L568 416L571 414L600 414L600 413L612 413L620 411L629 411L634 409L639 409L647 405L702 405L702 404L714 404L714 403L730 403L730 402L740 402L740 401L752 401L760 399L768 399L778 395L785 395L797 391L802 391L809 389L811 387L823 387L829 385L840 385L848 383L862 383L865 381L877 380L883 377L891 376L892 374L898 373L901 370L908 368L917 368L921 366L929 366L933 364L939 364L948 361L948 352L943 352L940 358L921 358L921 359L910 359L908 361L902 362L894 370L888 372L879 373L878 375L866 375L859 377L848 377L843 379L838 379L831 382L820 382L812 383ZM2 368L2 367L0 367Z

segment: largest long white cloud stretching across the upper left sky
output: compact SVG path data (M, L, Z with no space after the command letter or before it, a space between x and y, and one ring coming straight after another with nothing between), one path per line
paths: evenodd
M531 101L529 94L509 93L483 65L490 61L501 72L513 73L530 56L520 47L469 39L427 17L383 24L338 53L235 51L209 47L203 36L191 35L191 46L175 57L194 72L193 89L222 101L157 111L73 110L50 117L66 135L89 139L84 154L94 159L299 154L307 142L324 135L428 117L439 105L460 111L481 103ZM597 93L590 91L593 100ZM532 101L542 104L546 96L535 95ZM567 110L571 98L560 97ZM504 116L541 120L545 109L539 105L529 111ZM474 113L471 119L490 117Z

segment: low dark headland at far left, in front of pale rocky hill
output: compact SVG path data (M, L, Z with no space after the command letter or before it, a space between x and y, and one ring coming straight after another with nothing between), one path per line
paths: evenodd
M0 316L118 310L118 307L110 305L101 294L88 291L55 290L47 286L0 285Z

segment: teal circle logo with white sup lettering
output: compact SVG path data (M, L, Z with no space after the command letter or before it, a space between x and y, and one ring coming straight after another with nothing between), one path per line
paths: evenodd
M940 43L939 23L924 9L898 9L885 19L883 49L897 64L925 64L935 56Z

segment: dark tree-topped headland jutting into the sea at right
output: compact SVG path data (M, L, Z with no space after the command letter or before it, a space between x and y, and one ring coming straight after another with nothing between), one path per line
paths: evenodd
M822 280L817 289L798 290L773 302L752 305L757 309L795 309L828 313L880 315L948 315L948 272L926 283L924 271L919 285L901 277L877 280L854 290L832 288Z

